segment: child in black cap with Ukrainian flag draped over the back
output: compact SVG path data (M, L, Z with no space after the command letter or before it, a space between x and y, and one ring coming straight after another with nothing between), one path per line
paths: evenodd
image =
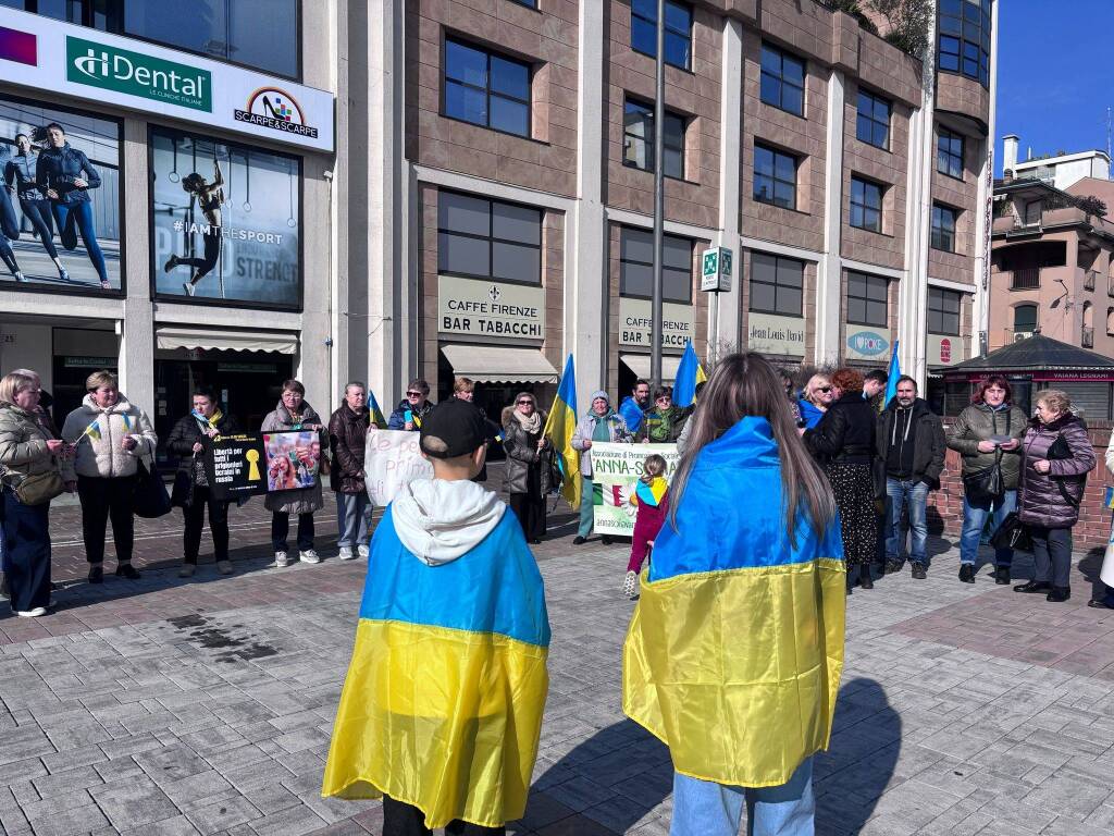
M548 689L541 575L507 506L470 482L487 427L450 399L426 415L433 479L371 541L323 796L383 797L383 833L501 834L526 809Z

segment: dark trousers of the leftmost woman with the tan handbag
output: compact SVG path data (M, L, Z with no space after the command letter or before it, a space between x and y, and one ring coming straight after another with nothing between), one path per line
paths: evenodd
M0 498L3 570L11 609L28 612L50 603L50 503L23 505L11 488Z

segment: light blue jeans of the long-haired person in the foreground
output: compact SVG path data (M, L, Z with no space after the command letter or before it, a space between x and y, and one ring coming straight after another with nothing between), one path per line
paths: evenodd
M746 803L746 836L813 836L812 758L780 787L732 787L673 775L670 836L735 836Z

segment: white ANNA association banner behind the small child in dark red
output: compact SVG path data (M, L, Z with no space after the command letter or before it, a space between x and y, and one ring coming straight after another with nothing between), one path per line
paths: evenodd
M634 533L637 506L631 504L635 483L642 476L646 456L656 453L665 459L665 478L681 461L675 444L609 444L592 445L592 504L596 534L629 537Z

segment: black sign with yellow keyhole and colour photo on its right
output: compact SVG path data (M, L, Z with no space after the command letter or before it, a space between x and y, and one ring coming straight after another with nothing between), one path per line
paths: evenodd
M217 436L205 450L205 478L217 499L299 490L317 484L316 432L244 432Z

